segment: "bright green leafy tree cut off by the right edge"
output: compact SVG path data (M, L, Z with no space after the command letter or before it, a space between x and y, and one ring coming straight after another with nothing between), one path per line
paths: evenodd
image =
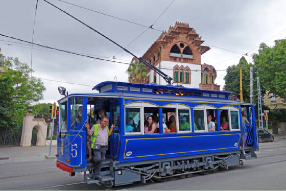
M274 42L273 47L261 43L252 60L261 86L286 102L286 39Z

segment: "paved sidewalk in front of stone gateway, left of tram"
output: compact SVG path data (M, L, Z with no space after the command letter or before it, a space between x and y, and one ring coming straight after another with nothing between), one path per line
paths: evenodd
M50 146L42 147L0 147L0 164L46 160ZM52 159L56 155L56 146L51 148Z

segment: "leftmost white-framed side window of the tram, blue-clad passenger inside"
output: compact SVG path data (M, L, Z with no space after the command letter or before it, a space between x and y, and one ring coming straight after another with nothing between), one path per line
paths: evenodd
M125 108L125 132L141 132L140 108Z

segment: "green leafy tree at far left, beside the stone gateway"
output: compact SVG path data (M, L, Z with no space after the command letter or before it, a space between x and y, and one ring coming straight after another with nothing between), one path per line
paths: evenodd
M27 65L22 63L18 58L8 57L5 63L0 63L0 67L6 68L4 74L0 78L0 81L4 81L4 78L11 79L9 88L5 91L1 91L3 94L9 94L11 87L13 88L12 100L13 104L9 105L11 111L14 111L14 119L17 125L22 124L23 113L27 112L29 105L33 105L43 98L43 91L45 87L41 80L29 77L33 70ZM10 98L10 97L9 97ZM6 99L9 100L7 97ZM3 104L1 103L2 107ZM12 128L12 127L9 127Z

